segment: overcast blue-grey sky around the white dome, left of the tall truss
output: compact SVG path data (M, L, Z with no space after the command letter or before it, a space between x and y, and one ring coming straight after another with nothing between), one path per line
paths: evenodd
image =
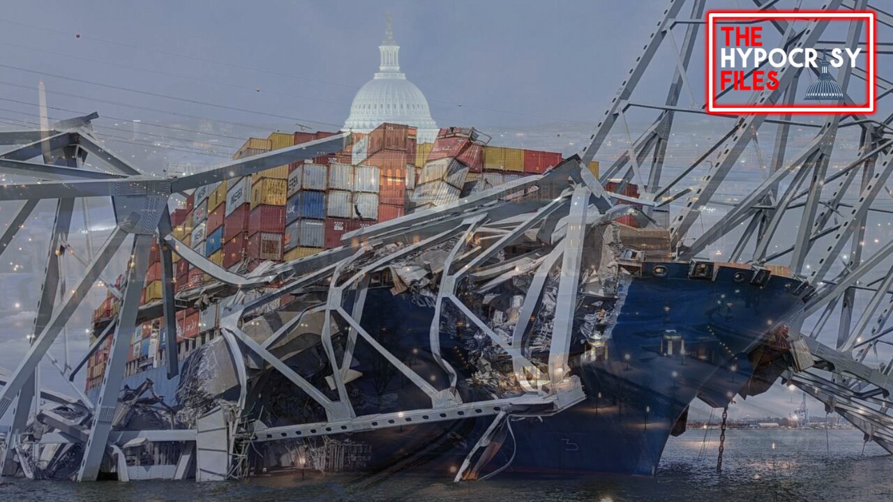
M230 130L231 138L219 138L221 151L264 128L336 130L356 89L378 69L389 11L402 69L428 97L439 125L564 122L590 130L666 4L8 3L0 15L0 126L36 120L42 80L51 115L98 111L113 118L99 122L110 128L114 119L200 117ZM649 83L655 80L643 85ZM0 341L20 335L0 329ZM21 350L21 341L15 347ZM0 364L14 366L16 354L0 352ZM764 403L757 408L778 414L796 406L780 394Z

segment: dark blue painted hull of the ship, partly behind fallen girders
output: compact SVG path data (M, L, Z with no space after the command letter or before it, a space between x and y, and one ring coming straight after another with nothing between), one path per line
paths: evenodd
M727 405L751 376L747 354L776 327L799 322L806 291L798 290L797 280L772 276L752 284L753 271L730 267L720 268L712 280L698 280L689 279L689 264L660 265L666 268L663 277L643 272L622 288L608 356L572 354L573 373L587 398L559 414L511 422L511 431L497 436L502 448L480 475L510 461L502 475L653 474L674 427L684 428L689 403L700 397ZM426 350L433 310L388 289L371 289L366 305L363 328L381 333L388 350L442 387L447 375ZM487 398L468 383L473 367L463 360L461 340L442 344L445 358L465 379L458 385L463 401ZM371 363L371 351L358 347L355 354L353 369L380 378L377 384L371 378L352 383L361 396L352 400L357 414L430 406L398 372L381 381L382 366ZM391 391L395 399L376 399ZM341 439L371 447L363 473L452 476L491 422L492 417L405 426Z

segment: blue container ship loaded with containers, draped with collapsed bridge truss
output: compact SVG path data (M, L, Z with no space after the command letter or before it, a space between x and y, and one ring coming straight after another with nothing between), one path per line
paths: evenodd
M236 157L330 134L274 132ZM728 406L789 368L812 289L783 267L675 261L635 186L581 191L597 163L460 128L419 143L383 123L346 144L171 213L177 346L154 248L117 431L221 431L227 448L197 446L198 480L653 474L694 399ZM184 247L273 279L234 289ZM116 297L94 315L88 397ZM183 443L121 446L133 472L189 472Z

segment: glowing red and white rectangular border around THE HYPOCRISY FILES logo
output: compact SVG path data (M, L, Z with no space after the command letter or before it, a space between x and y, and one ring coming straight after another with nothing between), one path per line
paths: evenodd
M794 114L828 114L828 113L874 113L877 89L877 42L876 18L872 11L847 11L842 13L829 13L826 11L710 11L707 14L706 36L706 112L728 115L730 113L794 113ZM716 105L714 103L714 61L715 44L714 33L715 20L764 20L776 19L815 20L827 18L830 21L862 20L867 24L865 30L865 42L868 46L868 79L866 79L866 95L868 102L864 105Z

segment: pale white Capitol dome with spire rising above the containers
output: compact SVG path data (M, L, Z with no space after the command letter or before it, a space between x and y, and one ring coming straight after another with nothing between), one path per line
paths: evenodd
M400 71L400 46L394 41L389 16L385 39L379 51L379 71L356 92L344 129L369 132L382 122L391 122L416 128L420 143L434 141L438 135L438 124L431 119L425 95Z

